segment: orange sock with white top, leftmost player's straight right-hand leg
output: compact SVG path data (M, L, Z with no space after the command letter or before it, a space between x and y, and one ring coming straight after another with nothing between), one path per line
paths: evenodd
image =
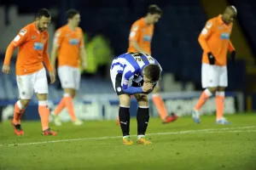
M38 102L38 112L41 118L41 124L43 131L49 128L49 107L48 102L46 101L39 101Z

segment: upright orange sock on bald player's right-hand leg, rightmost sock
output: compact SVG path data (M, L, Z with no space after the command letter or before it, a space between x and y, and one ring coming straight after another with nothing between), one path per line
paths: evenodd
M216 101L216 118L221 119L224 114L224 92L216 92L215 101Z

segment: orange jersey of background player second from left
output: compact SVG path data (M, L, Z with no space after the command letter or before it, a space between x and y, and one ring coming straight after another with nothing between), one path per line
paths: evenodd
M58 65L79 67L80 48L84 48L84 33L80 27L72 31L67 25L55 32L54 43L58 45Z

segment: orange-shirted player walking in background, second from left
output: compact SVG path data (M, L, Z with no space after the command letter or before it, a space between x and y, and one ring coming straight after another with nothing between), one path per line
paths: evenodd
M63 98L51 115L55 116L55 125L61 126L59 114L67 107L74 125L83 124L76 116L73 108L73 98L79 89L81 73L79 64L86 68L86 53L84 49L84 33L79 27L80 14L77 10L67 11L67 25L55 32L54 45L51 52L51 62L55 70L58 58L58 75L64 90Z

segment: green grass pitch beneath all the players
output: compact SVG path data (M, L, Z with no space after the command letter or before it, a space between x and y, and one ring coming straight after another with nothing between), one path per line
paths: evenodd
M161 124L152 118L147 138L137 145L137 123L131 120L134 145L122 144L114 121L89 121L75 127L51 128L42 136L40 122L23 122L24 136L15 136L10 122L0 123L0 169L181 169L256 170L256 114L226 116L232 124L216 125L214 116L191 117Z

